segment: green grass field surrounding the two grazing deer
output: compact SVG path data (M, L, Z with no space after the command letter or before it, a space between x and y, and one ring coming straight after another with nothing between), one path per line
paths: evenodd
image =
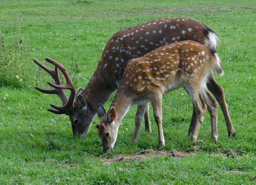
M256 178L255 1L0 1L0 184L254 184ZM51 81L32 60L63 63L76 88L89 82L103 49L119 30L185 16L219 37L225 89L237 132L227 136L221 109L218 142L206 113L198 143L187 131L192 106L184 90L163 98L166 146L142 125L131 144L136 107L123 119L114 151L103 154L95 117L86 138L73 137L69 118L47 111L56 96L34 86ZM112 97L113 99L113 97ZM108 109L110 103L105 105Z

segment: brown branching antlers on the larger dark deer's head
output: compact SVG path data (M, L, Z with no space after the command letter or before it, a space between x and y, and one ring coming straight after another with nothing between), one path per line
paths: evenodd
M74 102L74 98L75 98L76 90L75 90L74 84L69 76L69 73L67 72L67 70L65 69L65 67L62 64L60 64L56 60L53 60L48 57L46 57L45 60L50 62L51 64L53 64L55 66L55 69L51 70L47 65L41 63L36 58L33 61L52 76L55 84L51 83L51 82L47 82L47 83L50 86L52 86L54 89L42 89L40 87L35 87L35 89L37 89L40 92L43 92L45 94L55 94L55 95L59 96L59 98L62 102L62 106L56 106L56 105L51 104L51 106L53 108L55 108L56 110L47 109L48 111L56 113L56 114L68 114L68 111L73 107L73 102ZM60 78L58 75L58 69L63 73L63 75L66 78L65 85L61 85L61 81L60 81ZM67 98L63 89L69 89L71 91L69 99Z

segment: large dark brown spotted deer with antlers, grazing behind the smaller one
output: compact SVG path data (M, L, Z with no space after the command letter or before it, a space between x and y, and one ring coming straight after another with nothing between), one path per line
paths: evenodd
M129 60L143 56L162 45L182 40L195 40L202 43L207 48L216 49L218 38L214 31L195 19L181 17L153 20L114 34L106 44L99 64L87 87L84 90L79 89L76 96L74 85L65 68L57 61L50 58L46 58L46 60L65 74L68 83L66 86L60 84L56 67L54 72L50 70L49 67L41 64L37 59L34 59L40 67L51 74L56 84L50 84L54 87L54 90L35 88L47 94L57 94L61 99L62 106L51 105L56 110L48 110L57 114L69 115L73 134L86 136L91 128L98 104L104 104L110 99L113 91L117 89L123 77L125 67ZM228 135L234 136L235 132L225 102L224 90L216 82L212 74L207 82L207 87L212 94L214 94L222 108ZM69 99L62 90L65 88L71 90ZM210 95L208 97L212 99ZM217 120L217 105L211 107L211 119ZM193 111L193 119L189 127L189 133L192 132L194 124L195 108ZM146 125L148 125L148 130L151 131L149 122ZM212 137L218 137L216 132L217 131L212 131L212 135L214 135Z

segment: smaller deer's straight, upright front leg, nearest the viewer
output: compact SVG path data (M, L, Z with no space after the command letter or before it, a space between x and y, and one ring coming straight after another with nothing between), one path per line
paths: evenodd
M154 110L154 118L158 128L158 149L165 146L163 127L162 127L162 93L157 93L152 96L151 103Z

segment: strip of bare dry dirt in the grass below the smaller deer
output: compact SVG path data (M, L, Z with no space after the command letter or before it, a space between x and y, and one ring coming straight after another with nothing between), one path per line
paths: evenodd
M167 157L186 157L195 156L195 153L189 153L187 151L176 151L176 150L143 150L136 152L134 154L120 154L115 155L110 159L103 159L103 164L108 165L115 162L124 161L140 161L140 160L150 160L154 157L167 156Z

